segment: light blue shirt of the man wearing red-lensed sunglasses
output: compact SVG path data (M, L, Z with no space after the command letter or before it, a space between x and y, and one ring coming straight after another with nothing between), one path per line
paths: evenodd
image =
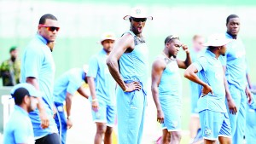
M26 46L21 59L21 82L26 83L26 78L28 77L37 78L39 89L44 92L42 98L45 111L49 117L49 128L44 130L41 128L38 108L33 112L29 112L34 135L37 138L58 132L53 118L55 62L46 43L47 40L37 34Z

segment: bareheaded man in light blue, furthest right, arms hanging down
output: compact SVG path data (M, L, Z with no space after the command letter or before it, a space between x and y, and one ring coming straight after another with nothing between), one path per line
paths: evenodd
M241 38L240 18L230 14L226 20L226 37L233 41L227 45L225 56L220 56L225 73L227 108L230 110L230 124L233 144L241 144L245 134L247 99L250 104L252 95L247 87L246 51Z

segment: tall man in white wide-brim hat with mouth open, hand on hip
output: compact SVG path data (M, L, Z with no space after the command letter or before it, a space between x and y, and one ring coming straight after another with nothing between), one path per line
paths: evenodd
M148 49L143 37L146 20L153 20L145 9L131 9L124 20L131 26L113 47L107 59L109 72L119 84L117 88L118 136L121 144L142 141L145 107L147 105Z

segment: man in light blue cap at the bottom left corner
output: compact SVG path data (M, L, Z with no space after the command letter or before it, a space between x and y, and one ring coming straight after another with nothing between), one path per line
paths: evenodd
M37 108L37 97L43 94L32 84L16 84L11 90L15 100L14 112L11 113L3 131L3 144L34 143L32 123L28 112Z

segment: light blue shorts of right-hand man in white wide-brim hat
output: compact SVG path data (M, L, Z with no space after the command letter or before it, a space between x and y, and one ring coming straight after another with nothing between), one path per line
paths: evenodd
M230 119L227 112L204 110L199 112L203 138L218 140L218 136L231 138Z

